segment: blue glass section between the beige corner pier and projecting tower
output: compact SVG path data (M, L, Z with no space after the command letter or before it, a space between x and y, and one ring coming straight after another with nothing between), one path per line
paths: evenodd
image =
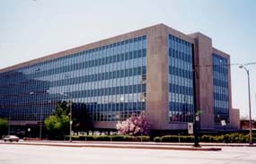
M193 122L193 45L169 35L168 47L170 122Z

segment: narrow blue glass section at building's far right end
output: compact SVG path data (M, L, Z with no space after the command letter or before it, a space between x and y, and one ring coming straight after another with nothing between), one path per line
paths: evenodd
M213 54L215 122L229 122L229 89L227 58Z

